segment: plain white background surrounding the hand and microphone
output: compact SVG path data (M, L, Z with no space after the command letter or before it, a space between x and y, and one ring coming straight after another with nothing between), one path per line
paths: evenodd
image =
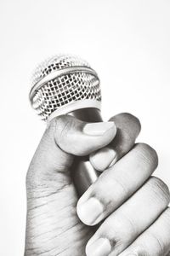
M139 117L139 141L160 156L170 185L170 1L1 0L0 254L23 255L26 170L45 125L28 101L31 72L59 54L82 56L99 73L104 119Z

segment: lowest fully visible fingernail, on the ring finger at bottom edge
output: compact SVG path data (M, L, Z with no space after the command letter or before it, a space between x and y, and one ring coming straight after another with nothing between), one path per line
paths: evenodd
M87 256L108 256L111 253L111 243L107 238L99 238L86 247Z

